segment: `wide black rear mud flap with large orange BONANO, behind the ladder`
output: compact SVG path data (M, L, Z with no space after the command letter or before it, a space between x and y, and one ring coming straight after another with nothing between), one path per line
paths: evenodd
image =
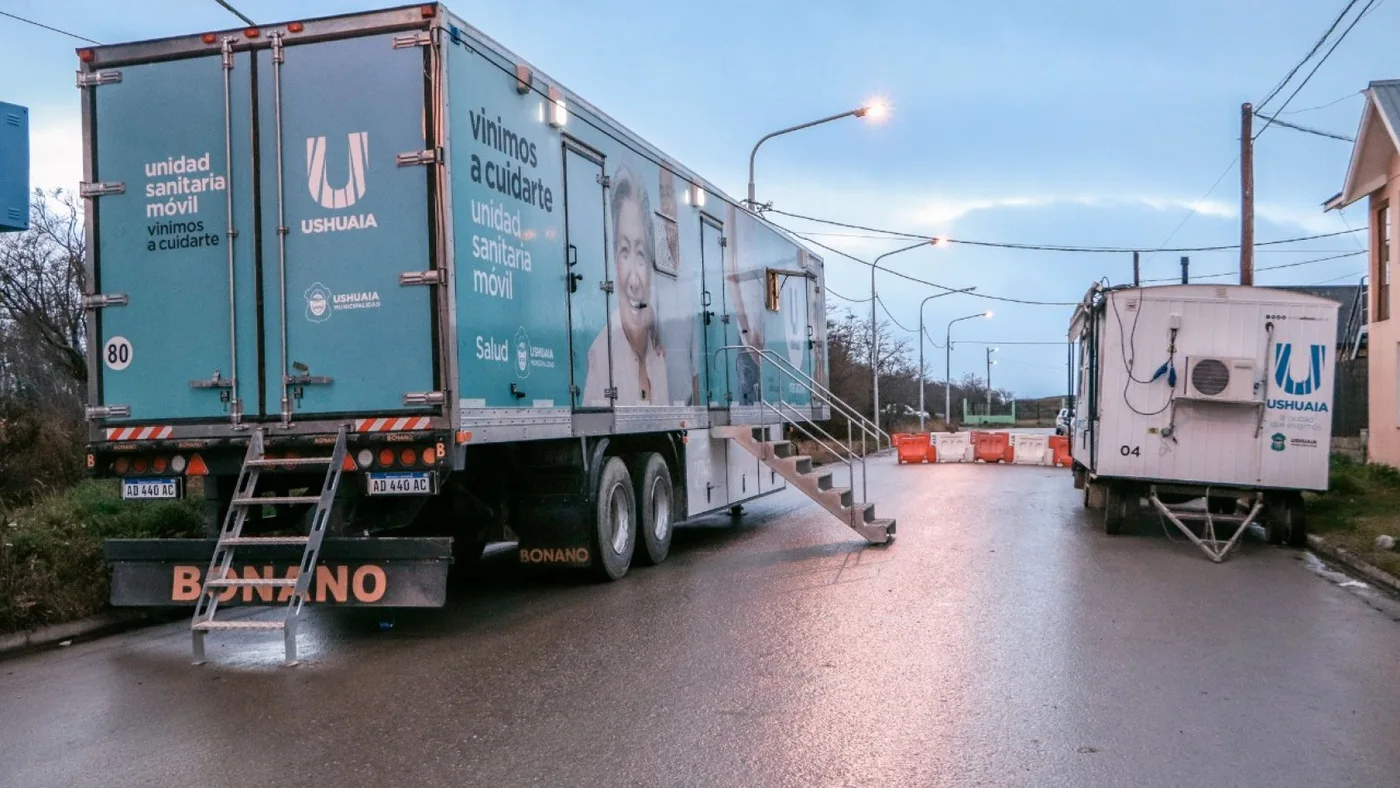
M193 607L214 554L213 539L108 539L112 605ZM245 546L234 554L241 578L297 577L298 546ZM326 539L311 584L312 605L441 607L452 539ZM279 605L290 588L230 588L220 605Z

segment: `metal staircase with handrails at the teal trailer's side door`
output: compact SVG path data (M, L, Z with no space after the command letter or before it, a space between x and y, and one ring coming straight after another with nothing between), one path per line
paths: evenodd
M854 407L839 399L830 389L819 384L802 370L794 367L771 350L735 344L720 349L721 353L741 351L757 356L759 379L766 381L762 374L767 368L777 371L777 396L763 391L759 392L759 424L732 424L725 427L711 427L710 432L718 438L729 438L759 458L766 466L777 472L790 484L806 494L826 511L836 515L841 522L860 533L872 544L883 544L895 539L895 521L876 519L875 504L869 502L867 486L865 455L869 444L874 442L875 452L890 446L890 438L879 425L860 414ZM846 420L846 442L841 442L820 424L811 420L809 413L804 413L797 404L784 397L788 391L787 382L797 384L811 397L811 404L823 403L832 409L833 418ZM825 451L837 458L846 466L850 487L834 487L834 473L832 467L813 467L812 458L797 453L791 441L770 439L769 427L791 427L806 438L815 441ZM861 451L855 452L854 439L860 432ZM860 495L855 495L855 470L860 467Z

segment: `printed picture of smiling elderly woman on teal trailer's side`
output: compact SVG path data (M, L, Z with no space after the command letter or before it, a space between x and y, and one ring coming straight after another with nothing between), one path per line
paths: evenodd
M617 168L613 175L609 210L615 305L609 328L588 349L584 403L608 404L610 335L612 385L617 389L613 404L671 404L666 356L661 347L652 293L651 260L657 239L651 224L651 200L641 181L627 167Z

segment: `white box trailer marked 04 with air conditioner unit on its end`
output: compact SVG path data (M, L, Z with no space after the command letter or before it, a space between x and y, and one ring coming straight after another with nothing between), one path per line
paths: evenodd
M1301 491L1327 488L1337 308L1261 287L1089 290L1070 322L1071 453L1105 529L1145 497L1217 561L1260 518L1270 542L1303 544ZM1196 498L1205 511L1179 507Z

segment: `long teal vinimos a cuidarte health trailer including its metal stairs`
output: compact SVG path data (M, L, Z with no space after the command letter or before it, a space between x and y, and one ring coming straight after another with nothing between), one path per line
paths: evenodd
M195 605L196 651L286 605L290 661L304 602L441 605L489 542L616 579L788 483L892 537L781 439L888 441L826 386L822 260L444 7L78 59L88 462L210 512L109 543L115 603Z

